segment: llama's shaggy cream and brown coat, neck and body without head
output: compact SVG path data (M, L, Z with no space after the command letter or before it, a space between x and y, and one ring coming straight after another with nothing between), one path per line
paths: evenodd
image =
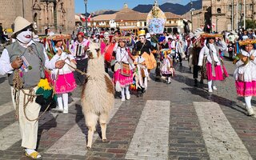
M87 78L82 90L83 113L109 114L114 106L114 85L105 72L103 56L89 60Z

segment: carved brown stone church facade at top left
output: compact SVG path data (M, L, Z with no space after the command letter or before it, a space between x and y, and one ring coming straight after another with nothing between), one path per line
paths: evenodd
M22 16L34 22L39 34L47 26L57 33L74 30L74 0L8 0L0 1L0 6L0 23L6 29Z

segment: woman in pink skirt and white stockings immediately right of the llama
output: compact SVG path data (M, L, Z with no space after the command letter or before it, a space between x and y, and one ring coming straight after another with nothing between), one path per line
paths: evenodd
M122 101L130 99L129 86L133 83L133 59L126 48L126 38L119 38L118 48L116 50L116 61L114 66L114 84L121 86ZM116 87L117 88L117 87ZM126 90L126 96L125 96ZM118 91L118 90L117 90Z

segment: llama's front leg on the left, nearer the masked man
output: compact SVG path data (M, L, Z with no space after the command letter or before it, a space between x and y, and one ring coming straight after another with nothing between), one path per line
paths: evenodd
M87 142L87 149L91 148L91 145L93 143L93 136L95 127L97 125L98 115L95 114L86 114L86 126L88 127L88 142Z

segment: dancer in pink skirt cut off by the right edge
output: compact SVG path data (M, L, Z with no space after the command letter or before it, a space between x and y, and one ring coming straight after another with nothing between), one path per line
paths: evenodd
M235 86L238 96L245 98L248 115L254 115L251 98L256 96L256 50L254 50L254 43L256 40L252 39L239 42L242 46L241 54L234 60L237 66L237 69L234 70Z

